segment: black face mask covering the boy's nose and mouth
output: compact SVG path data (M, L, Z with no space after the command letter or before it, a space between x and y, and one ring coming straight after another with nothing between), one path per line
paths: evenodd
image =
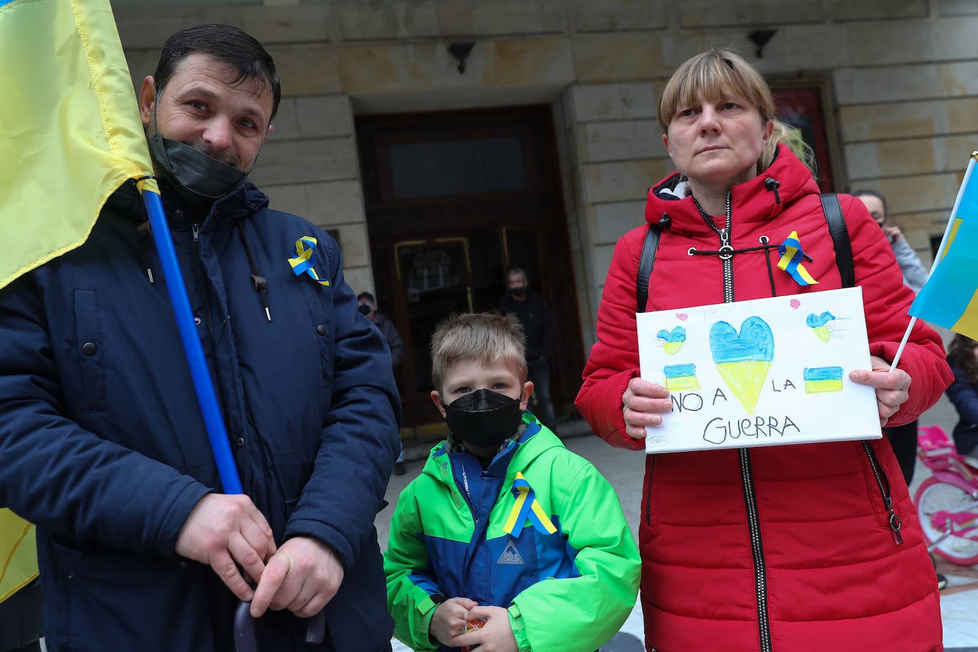
M512 437L522 420L519 401L489 389L479 389L445 405L452 433L466 444L498 449Z

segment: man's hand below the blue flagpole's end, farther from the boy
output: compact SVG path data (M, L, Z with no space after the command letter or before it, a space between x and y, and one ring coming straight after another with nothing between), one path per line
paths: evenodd
M242 494L207 494L180 529L175 552L209 565L235 595L250 600L251 587L238 565L249 577L260 578L265 560L275 553L275 540L251 499Z

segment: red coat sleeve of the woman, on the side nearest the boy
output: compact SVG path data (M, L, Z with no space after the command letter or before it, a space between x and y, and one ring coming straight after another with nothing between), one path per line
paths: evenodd
M625 434L621 397L629 381L639 375L635 281L647 229L634 229L615 245L598 308L598 342L591 348L582 374L584 384L574 402L596 435L633 451L645 449L645 440Z

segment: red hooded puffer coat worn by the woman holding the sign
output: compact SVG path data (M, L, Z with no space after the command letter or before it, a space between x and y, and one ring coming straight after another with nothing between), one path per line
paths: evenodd
M660 192L678 181L674 174L660 182L646 203L645 219L668 225L649 280L649 311L724 300L720 259L689 255L690 247L716 251L718 236L689 196ZM863 286L870 352L892 360L910 319L912 293L863 203L839 200L856 283ZM734 249L756 247L763 236L778 244L797 231L813 259L806 267L819 281L795 283L778 269L777 249L737 253L734 300L841 286L819 189L784 146L763 174L733 187L732 203ZM725 217L714 220L725 226ZM615 247L598 313L599 341L576 402L600 437L637 451L644 441L624 434L622 395L639 375L635 282L646 229L629 232ZM892 425L924 412L952 379L940 338L919 322L900 368L912 378L910 399ZM887 497L903 522L899 533L890 527ZM942 649L934 568L885 438L647 456L642 501L649 650Z

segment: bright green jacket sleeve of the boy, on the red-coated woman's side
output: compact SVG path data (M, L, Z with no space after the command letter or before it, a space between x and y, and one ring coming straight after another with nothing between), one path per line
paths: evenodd
M552 478L561 477L573 478L557 512L568 544L579 550L581 575L549 578L516 595L510 623L519 652L597 650L625 623L639 591L639 549L614 489L590 462L556 462Z

